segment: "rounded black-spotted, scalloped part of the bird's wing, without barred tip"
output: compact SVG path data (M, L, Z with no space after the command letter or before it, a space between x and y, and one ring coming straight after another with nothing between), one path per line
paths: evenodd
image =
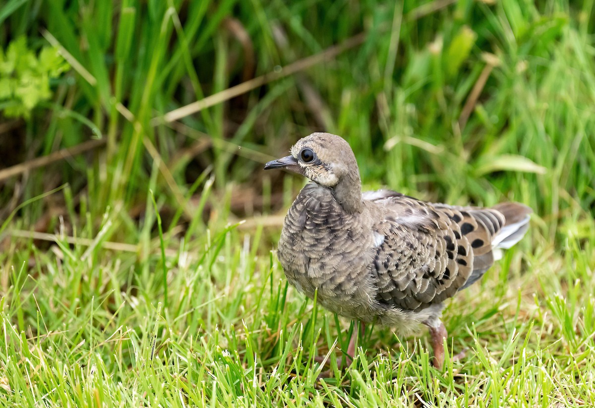
M465 284L473 253L449 212L395 192L368 193L364 198L384 214L374 226L385 238L371 266L378 302L422 309L452 297ZM477 222L473 225L477 228Z

